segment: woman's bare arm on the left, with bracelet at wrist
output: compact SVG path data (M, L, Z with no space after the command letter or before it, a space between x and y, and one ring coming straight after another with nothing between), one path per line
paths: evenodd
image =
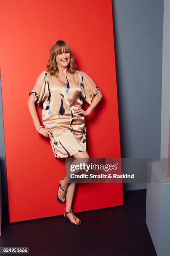
M37 77L37 80L35 81L34 87L32 88L32 90L37 92L37 95L40 93L41 86L42 86L42 83L43 83L44 77L45 77L45 72L46 71L43 71ZM27 105L28 105L28 109L30 111L30 115L32 117L32 121L35 125L35 129L37 129L37 128L40 128L41 124L40 124L40 120L39 120L38 115L37 115L37 110L36 110L36 107L35 107L34 97L35 97L35 95L30 94L30 96L28 98ZM38 133L42 134L46 138L49 138L49 137L52 138L51 133L53 133L53 132L51 131L50 128L40 128Z

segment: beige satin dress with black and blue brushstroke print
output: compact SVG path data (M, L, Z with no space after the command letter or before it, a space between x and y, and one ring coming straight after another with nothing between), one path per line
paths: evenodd
M91 104L96 95L102 97L98 90L85 72L77 70L58 77L45 72L40 94L34 90L29 93L35 95L36 104L42 103L42 123L53 131L50 143L55 157L86 151L85 116L74 113L73 108L82 106L83 100Z

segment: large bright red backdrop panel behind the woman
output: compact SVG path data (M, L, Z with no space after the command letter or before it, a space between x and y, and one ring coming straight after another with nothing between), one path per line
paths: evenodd
M0 8L0 60L10 222L61 215L57 182L65 159L37 134L28 93L45 70L49 50L65 40L77 69L100 87L103 100L86 118L90 157L120 157L111 0L5 0ZM41 107L37 107L41 120ZM41 122L42 123L42 122ZM122 205L122 184L77 184L75 212Z

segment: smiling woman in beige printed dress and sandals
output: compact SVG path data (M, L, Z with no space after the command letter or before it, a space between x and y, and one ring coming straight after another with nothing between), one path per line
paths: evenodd
M102 93L85 72L76 70L70 46L63 40L55 42L50 49L47 69L38 77L29 93L28 108L37 133L50 139L57 158L89 158L86 151L85 116L90 115L102 99ZM89 103L82 109L83 100ZM35 103L42 102L42 127ZM64 217L74 225L81 221L73 214L72 199L75 183L60 179L57 200L66 202ZM67 193L67 201L66 201Z

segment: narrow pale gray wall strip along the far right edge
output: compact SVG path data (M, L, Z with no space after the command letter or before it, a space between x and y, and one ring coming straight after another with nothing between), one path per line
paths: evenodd
M168 157L170 118L170 0L164 0L161 158Z

